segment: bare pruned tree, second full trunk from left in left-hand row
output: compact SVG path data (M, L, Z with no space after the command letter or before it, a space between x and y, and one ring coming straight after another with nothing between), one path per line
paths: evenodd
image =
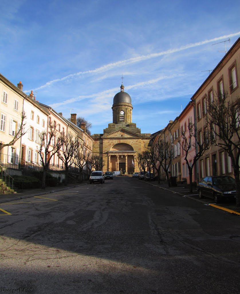
M65 166L65 186L68 183L68 164L73 160L76 150L79 148L79 140L72 133L62 133L60 136L61 148L57 151L59 158Z

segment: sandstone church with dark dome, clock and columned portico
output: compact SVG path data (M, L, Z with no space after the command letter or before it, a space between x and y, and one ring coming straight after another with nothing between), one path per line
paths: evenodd
M94 134L92 155L103 158L103 171L122 171L131 174L139 171L136 157L146 151L151 134L141 134L141 129L132 123L132 102L128 93L121 91L113 98L113 122L103 130L103 134Z

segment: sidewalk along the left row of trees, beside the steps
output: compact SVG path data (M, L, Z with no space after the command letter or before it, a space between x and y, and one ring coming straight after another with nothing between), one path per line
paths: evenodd
M47 186L45 190L42 190L40 188L39 189L24 189L22 190L22 192L19 192L16 194L0 194L0 203L69 190L79 186L87 185L87 183L88 181L84 181L82 183L68 184L67 186L56 186L56 187Z

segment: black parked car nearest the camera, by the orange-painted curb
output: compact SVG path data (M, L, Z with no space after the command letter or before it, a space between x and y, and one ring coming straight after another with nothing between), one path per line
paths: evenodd
M199 198L206 196L218 203L221 199L236 198L236 182L230 176L207 176L197 183L197 191Z

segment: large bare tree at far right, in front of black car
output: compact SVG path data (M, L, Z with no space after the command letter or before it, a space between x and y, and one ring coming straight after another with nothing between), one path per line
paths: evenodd
M207 100L208 101L208 100ZM240 205L240 98L229 98L227 91L215 93L213 101L207 102L206 123L212 130L213 141L227 151L236 181L236 206Z

